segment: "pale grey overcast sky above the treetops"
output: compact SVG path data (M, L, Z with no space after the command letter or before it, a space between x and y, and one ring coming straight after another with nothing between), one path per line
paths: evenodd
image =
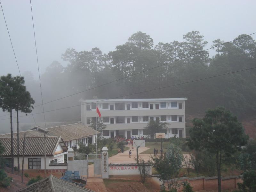
M29 0L1 0L21 74L37 75L36 52ZM40 73L67 48L103 53L124 44L135 32L154 43L182 41L198 30L208 41L233 40L256 31L256 1L67 1L32 0ZM12 47L0 12L0 75L18 75ZM255 39L256 37L253 36Z

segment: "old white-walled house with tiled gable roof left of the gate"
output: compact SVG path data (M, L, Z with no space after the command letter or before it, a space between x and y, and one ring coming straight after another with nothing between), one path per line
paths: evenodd
M11 138L0 138L0 143L4 147L3 158L6 159L7 165L11 164ZM23 155L23 137L19 138L20 144L20 165L22 164ZM45 138L46 151L46 169L54 169L49 164L64 163L64 155L68 148L60 136ZM13 138L14 166L17 166L17 138ZM26 137L24 150L24 170L36 169L44 170L44 137ZM56 168L60 169L60 167ZM62 169L67 169L63 166Z

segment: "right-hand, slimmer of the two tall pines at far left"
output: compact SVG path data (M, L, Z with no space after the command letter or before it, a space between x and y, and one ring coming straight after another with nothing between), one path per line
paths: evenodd
M20 143L19 143L19 111L23 113L31 113L33 104L35 101L31 98L30 93L27 91L26 86L24 86L24 77L13 77L15 81L15 88L17 90L17 98L15 101L15 110L17 112L17 161L18 161L18 172L20 172ZM32 108L32 109L31 109Z

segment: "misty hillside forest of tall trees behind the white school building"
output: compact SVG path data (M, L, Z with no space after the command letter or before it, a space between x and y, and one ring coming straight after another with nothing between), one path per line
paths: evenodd
M237 38L245 36L239 35ZM101 86L74 96L45 104L45 111L79 105L78 100L108 99L125 96L132 98L178 98L188 97L186 115L202 116L207 108L224 106L240 119L255 115L256 111L256 69L245 70L225 76L214 77L202 81L180 84L209 76L256 66L256 43L247 36L218 46L216 54L209 56L206 49L208 42L198 31L183 36L184 41L158 43L146 33L133 34L123 45L116 46L115 51L103 54L99 48L91 51L77 52L68 48L62 54L62 60L68 62L63 67L53 61L41 76L44 103L81 92L101 84L130 76L132 74L161 67L134 75L114 83ZM214 40L212 46L223 44ZM200 52L198 54L194 54ZM188 55L194 54L190 57ZM174 61L180 58L184 59ZM29 72L24 74L26 85L36 100L41 104L40 89ZM155 91L133 94L159 87L180 84ZM41 107L36 107L41 108ZM35 112L42 111L36 109ZM67 108L46 113L47 122L80 121L80 107Z

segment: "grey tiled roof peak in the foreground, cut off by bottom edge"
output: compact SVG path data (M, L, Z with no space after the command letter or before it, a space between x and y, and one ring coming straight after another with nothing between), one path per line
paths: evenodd
M90 189L77 186L74 183L58 179L57 177L50 176L45 179L39 180L25 188L16 192L94 192Z

